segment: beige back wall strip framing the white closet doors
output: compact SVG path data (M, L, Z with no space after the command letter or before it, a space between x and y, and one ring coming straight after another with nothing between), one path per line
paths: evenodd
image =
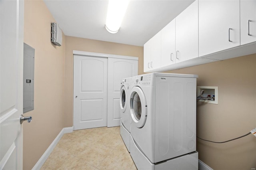
M66 36L65 127L73 126L73 50L139 57L138 74L143 73L143 47Z

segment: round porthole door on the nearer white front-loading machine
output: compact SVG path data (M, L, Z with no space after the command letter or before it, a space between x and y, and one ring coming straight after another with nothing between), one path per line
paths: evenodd
M147 119L147 104L140 87L133 87L130 95L130 113L136 127L141 128Z

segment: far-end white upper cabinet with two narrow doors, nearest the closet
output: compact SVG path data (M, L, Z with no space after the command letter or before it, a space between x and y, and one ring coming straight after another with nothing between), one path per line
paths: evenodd
M144 72L161 67L161 32L144 44Z

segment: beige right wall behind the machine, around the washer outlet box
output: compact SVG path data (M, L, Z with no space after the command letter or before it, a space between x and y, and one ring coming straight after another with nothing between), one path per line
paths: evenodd
M197 102L197 135L225 141L256 127L256 54L168 71L197 74L198 86L218 86L218 105ZM197 139L199 159L214 170L256 168L256 138L215 144Z

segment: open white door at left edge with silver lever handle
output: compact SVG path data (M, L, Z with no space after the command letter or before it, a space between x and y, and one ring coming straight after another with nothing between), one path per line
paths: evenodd
M22 169L24 1L0 1L0 169Z

